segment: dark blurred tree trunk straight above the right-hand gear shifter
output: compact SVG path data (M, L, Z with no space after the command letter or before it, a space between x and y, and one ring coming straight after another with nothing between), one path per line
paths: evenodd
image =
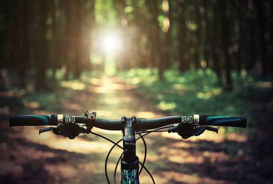
M184 72L190 68L187 50L187 26L186 26L186 5L184 1L178 0L178 41L179 41L179 71Z

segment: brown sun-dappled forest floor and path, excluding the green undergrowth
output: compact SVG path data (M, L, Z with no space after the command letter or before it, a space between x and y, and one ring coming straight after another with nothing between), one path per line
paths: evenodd
M52 93L28 97L9 91L1 93L0 99L0 113L4 115L83 115L84 110L96 111L99 118L170 115L118 77L92 78L89 85L67 82ZM111 143L92 134L74 140L50 132L39 135L42 127L9 128L6 118L0 120L0 183L106 183L104 161ZM122 138L121 131L92 131L115 141ZM272 147L272 140L261 145L247 135L208 131L186 140L174 133L153 133L145 140L146 166L157 184L273 183L272 158L263 159L272 149L259 153L264 151L262 146ZM254 153L253 147L260 150ZM115 148L109 158L110 181L120 154ZM137 144L137 155L143 160L142 142ZM117 176L120 181L119 170ZM140 182L152 183L145 171Z

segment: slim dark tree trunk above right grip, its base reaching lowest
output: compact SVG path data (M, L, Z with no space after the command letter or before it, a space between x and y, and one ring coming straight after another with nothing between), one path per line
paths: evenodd
M224 56L225 56L225 74L226 74L226 91L232 90L232 79L231 79L231 55L232 48L230 47L230 30L229 22L226 18L226 1L222 1L221 10L223 13L222 16L222 44L224 47Z

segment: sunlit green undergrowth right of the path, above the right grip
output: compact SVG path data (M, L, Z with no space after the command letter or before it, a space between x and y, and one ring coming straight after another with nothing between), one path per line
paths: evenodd
M225 93L218 85L218 78L211 69L196 72L188 70L180 74L177 70L167 70L166 81L160 82L156 69L131 69L120 72L126 83L136 85L145 96L163 111L177 114L212 114L246 116L248 126L253 127L253 101L262 97L260 89L255 88L255 80L244 72L232 73L234 90ZM241 131L238 128L225 128L226 132ZM252 131L248 129L248 131ZM246 132L244 130L244 132Z

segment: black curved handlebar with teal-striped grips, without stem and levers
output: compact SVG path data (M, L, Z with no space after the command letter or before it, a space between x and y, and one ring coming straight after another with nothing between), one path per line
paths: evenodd
M60 114L59 114L60 115ZM51 115L19 115L9 116L9 127L17 126L47 126L58 124L57 114ZM61 115L62 118L65 116ZM86 116L73 116L76 123L86 124L89 119ZM190 118L191 123L197 126L226 126L226 127L242 127L245 128L247 118L233 116L212 116L212 115L189 115L189 116L169 116L153 119L136 119L136 130L149 130L163 127L169 124L181 123L183 118ZM63 121L63 120L62 120ZM96 118L92 126L106 130L122 130L121 120L107 120Z

